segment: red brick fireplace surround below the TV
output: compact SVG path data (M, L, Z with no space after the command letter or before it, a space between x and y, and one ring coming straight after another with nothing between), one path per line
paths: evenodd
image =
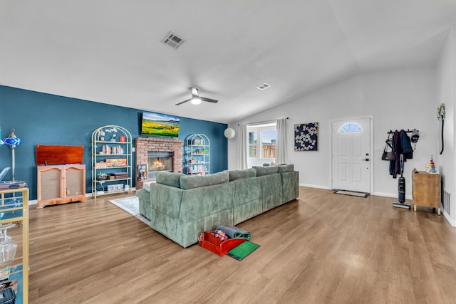
M147 164L150 152L171 152L172 171L182 173L182 150L183 141L177 138L137 137L135 169L138 171L138 164ZM138 180L138 172L135 177L136 189L142 189L145 181Z

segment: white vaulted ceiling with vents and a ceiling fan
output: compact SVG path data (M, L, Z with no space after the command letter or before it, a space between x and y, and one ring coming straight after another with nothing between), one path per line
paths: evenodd
M454 23L456 0L1 0L0 85L229 122L435 65ZM168 31L185 43L161 43ZM219 103L176 106L190 87Z

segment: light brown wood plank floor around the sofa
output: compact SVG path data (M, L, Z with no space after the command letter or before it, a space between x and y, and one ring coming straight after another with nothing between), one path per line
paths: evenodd
M239 262L178 246L118 197L31 208L30 303L456 303L456 228L431 209L301 187L238 225L261 245Z

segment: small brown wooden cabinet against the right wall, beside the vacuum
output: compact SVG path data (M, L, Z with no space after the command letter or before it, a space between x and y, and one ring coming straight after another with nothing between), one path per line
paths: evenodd
M440 215L440 174L413 170L412 179L413 210L416 206L427 206L437 209Z

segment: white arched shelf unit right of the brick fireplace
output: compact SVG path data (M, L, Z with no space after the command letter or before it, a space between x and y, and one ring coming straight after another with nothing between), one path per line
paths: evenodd
M209 174L209 138L193 134L185 140L185 172L189 175Z

